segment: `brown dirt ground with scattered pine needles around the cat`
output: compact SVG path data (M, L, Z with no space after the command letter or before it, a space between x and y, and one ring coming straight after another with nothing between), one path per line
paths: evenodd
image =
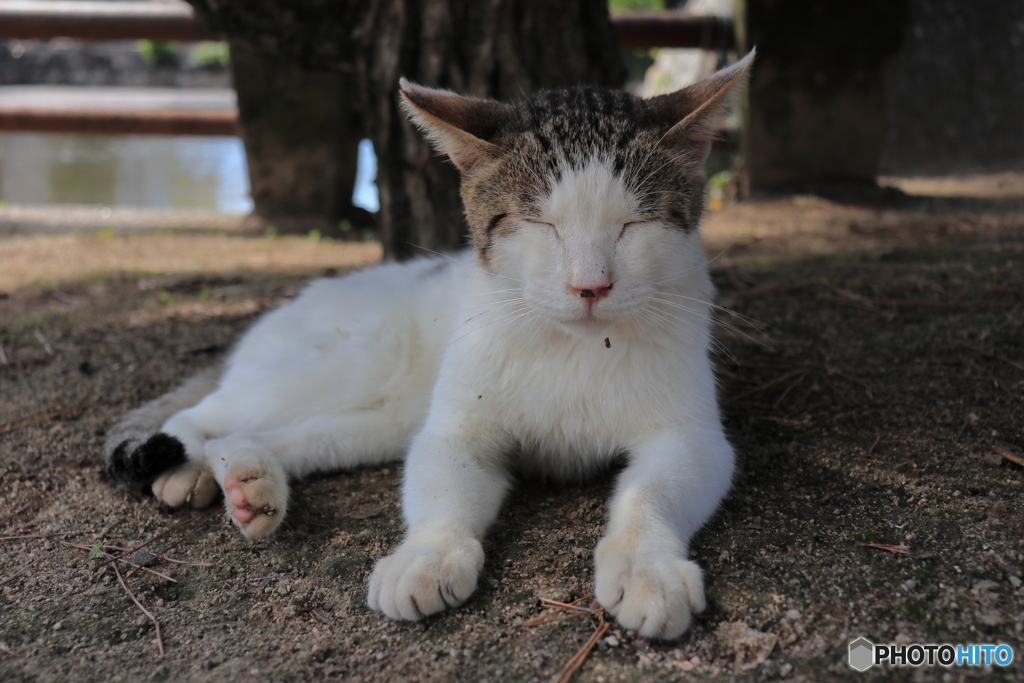
M736 311L716 355L739 454L693 548L710 606L675 642L612 625L573 680L1024 681L1024 205L952 206L799 197L710 216L720 303ZM310 245L0 239L0 679L551 681L595 632L599 614L541 599L590 604L613 473L523 482L475 595L415 625L365 604L402 530L399 464L298 482L286 528L260 543L99 481L125 411L221 357L310 275L379 254ZM125 580L164 656L113 565L88 557L147 541L198 563ZM532 624L543 614L558 621ZM858 674L858 637L1016 656Z

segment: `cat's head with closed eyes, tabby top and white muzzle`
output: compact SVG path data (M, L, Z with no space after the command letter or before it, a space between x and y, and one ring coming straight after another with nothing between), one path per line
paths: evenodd
M702 272L701 167L753 56L649 99L580 87L505 104L404 80L401 96L461 172L481 265L584 333Z

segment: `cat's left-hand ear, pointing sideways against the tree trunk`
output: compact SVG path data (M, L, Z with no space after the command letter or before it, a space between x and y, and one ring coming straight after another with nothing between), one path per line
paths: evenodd
M467 173L501 155L501 148L486 138L505 122L508 113L504 104L425 88L406 79L399 85L406 114L460 171Z

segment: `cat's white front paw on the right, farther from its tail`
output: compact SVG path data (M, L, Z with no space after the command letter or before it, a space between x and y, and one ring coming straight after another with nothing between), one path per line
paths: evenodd
M696 562L642 552L629 540L606 538L594 553L594 594L620 624L644 638L671 640L703 611L703 577Z

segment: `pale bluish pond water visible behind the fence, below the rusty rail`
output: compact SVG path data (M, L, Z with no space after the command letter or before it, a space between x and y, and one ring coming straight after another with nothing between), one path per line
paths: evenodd
M378 208L373 145L359 145L354 202ZM246 153L237 137L0 134L0 200L8 204L92 204L252 210Z

